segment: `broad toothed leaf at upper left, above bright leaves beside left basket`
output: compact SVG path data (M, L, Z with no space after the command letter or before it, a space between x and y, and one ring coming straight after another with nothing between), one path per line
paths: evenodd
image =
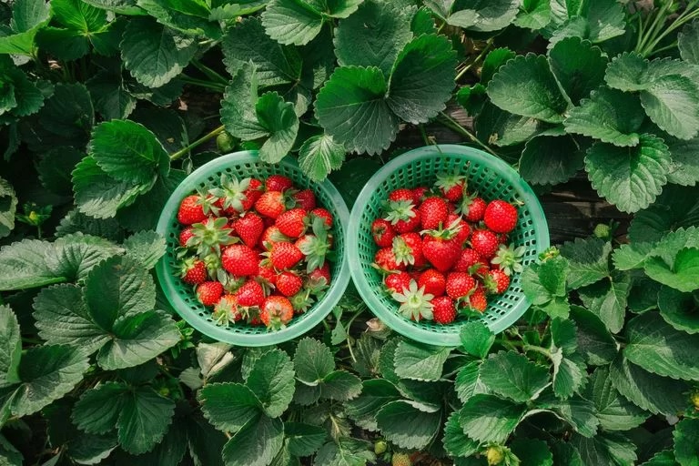
M179 75L197 52L192 37L177 35L151 18L133 18L121 41L124 66L144 86L160 87Z

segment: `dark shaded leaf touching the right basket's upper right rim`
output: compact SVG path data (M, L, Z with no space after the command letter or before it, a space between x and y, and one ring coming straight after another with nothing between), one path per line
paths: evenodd
M564 183L582 168L584 156L572 137L535 136L522 150L520 175L534 185Z

